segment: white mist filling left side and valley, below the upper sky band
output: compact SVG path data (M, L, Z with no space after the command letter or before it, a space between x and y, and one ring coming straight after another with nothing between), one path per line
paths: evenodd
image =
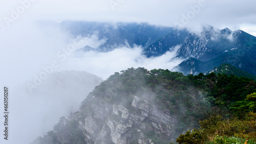
M1 86L9 87L10 93L9 140L1 139L5 143L29 143L46 134L60 116L78 110L88 93L115 72L131 67L172 69L183 61L170 61L180 45L152 58L142 55L140 45L116 45L100 52L105 39L99 39L97 32L74 37L38 22L2 29L0 35ZM93 50L81 51L86 45ZM0 122L2 127L4 119Z

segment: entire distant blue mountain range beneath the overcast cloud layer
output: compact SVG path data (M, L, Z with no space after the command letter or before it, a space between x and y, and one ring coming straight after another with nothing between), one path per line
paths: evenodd
M96 34L105 42L99 47L87 45L83 51L112 51L121 45L143 47L146 57L158 57L180 46L175 58L184 59L172 70L188 74L206 73L222 63L231 64L252 75L256 75L256 37L228 28L219 30L209 25L201 32L187 29L160 27L148 23L106 23L63 21L57 24L74 36ZM97 48L97 49L96 49Z

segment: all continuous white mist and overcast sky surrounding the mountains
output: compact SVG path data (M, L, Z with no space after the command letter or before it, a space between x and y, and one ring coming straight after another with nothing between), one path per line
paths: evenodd
M0 143L28 143L52 130L58 117L78 110L87 94L115 72L131 67L172 69L184 60L172 59L180 45L151 58L142 55L141 45L116 45L112 51L100 52L98 47L106 39L100 39L97 32L74 37L55 22L148 22L168 27L179 22L193 32L201 32L201 23L208 23L218 29L241 28L253 35L256 31L253 0L205 1L205 7L200 7L186 25L183 15L198 1L119 2L115 6L101 0L1 2L0 86L9 88L10 127L9 140L0 138ZM41 19L54 22L39 25L37 20ZM87 45L93 50L81 51ZM1 131L4 120L0 118Z

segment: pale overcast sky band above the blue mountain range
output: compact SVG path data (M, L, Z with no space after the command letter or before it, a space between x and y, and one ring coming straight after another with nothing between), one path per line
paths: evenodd
M21 2L29 2L22 4ZM242 29L256 35L256 1L238 0L13 0L1 1L0 27L6 27L6 17L14 11L20 16L10 25L35 19L62 21L136 21L174 26L188 18L186 26L207 23L219 29ZM20 8L23 6L25 12ZM18 10L17 10L18 9Z

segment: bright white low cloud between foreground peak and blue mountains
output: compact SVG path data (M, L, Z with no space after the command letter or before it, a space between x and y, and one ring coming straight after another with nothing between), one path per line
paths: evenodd
M144 67L148 70L151 69L172 69L174 66L182 62L181 59L172 59L180 45L176 46L174 51L166 52L164 55L159 57L146 58L142 55L142 47L135 45L130 47L122 45L110 52L98 52L78 51L73 56L69 57L65 63L63 63L59 70L81 70L88 71L89 73L95 74L103 79L108 78L115 72L120 72L127 68ZM79 54L77 54L79 53ZM79 57L76 57L79 55Z

